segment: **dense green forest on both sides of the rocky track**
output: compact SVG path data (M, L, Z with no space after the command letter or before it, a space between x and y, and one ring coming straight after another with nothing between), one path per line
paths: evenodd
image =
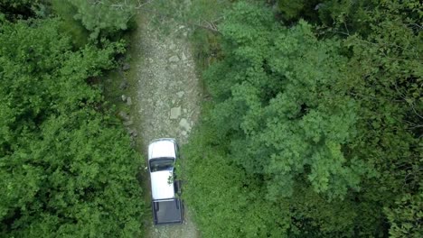
M0 0L1 237L145 236L144 158L103 93L140 1L93 2ZM420 1L146 2L193 29L202 237L423 237Z

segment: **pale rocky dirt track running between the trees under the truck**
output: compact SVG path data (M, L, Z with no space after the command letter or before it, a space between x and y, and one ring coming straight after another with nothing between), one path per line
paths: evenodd
M139 118L136 131L142 151L146 151L147 143L155 138L173 137L180 144L187 141L200 114L202 90L185 28L166 23L170 32L158 31L160 25L147 21L145 13L141 15L129 52L130 75L137 81L131 111ZM146 221L146 237L199 237L186 208L181 225L154 226L150 218Z

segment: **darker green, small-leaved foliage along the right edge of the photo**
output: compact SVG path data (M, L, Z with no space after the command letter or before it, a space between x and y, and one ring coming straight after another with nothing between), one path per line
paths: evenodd
M408 217L415 209L412 207L421 206L417 197L422 193L423 178L423 47L421 31L416 28L422 15L417 6L418 1L381 2L366 12L370 30L355 28L350 32L356 33L344 41L353 53L345 87L350 87L350 94L361 105L357 126L361 137L350 145L352 156L370 161L380 171L369 189L375 190L372 199L383 204L380 209L390 211L386 215L393 236L399 236L400 229L409 236L420 236L418 227L411 228L407 219L400 218ZM414 205L400 206L403 199ZM392 211L391 207L401 208Z

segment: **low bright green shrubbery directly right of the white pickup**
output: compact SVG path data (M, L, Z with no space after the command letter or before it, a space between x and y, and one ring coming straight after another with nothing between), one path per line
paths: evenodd
M193 208L203 237L284 237L289 215L286 204L271 203L261 195L259 178L230 162L203 121L183 147L183 198ZM185 159L186 158L186 159Z

